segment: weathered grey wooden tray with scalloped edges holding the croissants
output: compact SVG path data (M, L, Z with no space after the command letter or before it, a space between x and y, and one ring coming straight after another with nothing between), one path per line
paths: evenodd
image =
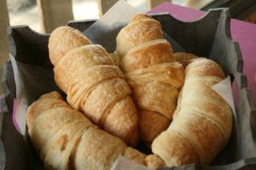
M153 14L159 20L163 30L187 52L207 56L221 65L227 75L232 77L233 96L236 115L234 115L233 132L229 144L222 150L211 166L188 165L163 169L207 169L235 170L256 169L256 109L253 94L247 88L247 77L242 73L242 57L239 44L230 36L230 14L227 8L211 9L199 20L183 22L170 14ZM70 21L67 25L80 31L86 30L96 20ZM113 37L115 38L115 37ZM49 35L38 34L28 26L9 27L8 39L10 54L22 65L36 65L52 74L53 66L49 62ZM26 71L25 71L26 72ZM39 75L40 76L40 75ZM26 75L23 78L27 78ZM12 122L12 108L16 98L15 74L11 61L3 66L3 108L8 111L0 116L0 170L1 169L44 169L42 161L32 150L26 136L15 130ZM52 85L52 82L49 83ZM26 88L26 87L25 87ZM27 91L26 91L27 90ZM29 93L26 89L25 94ZM55 90L55 85L53 89ZM44 90L40 92L46 93ZM39 93L39 94L40 94ZM33 96L30 102L37 99ZM0 119L1 120L1 119Z

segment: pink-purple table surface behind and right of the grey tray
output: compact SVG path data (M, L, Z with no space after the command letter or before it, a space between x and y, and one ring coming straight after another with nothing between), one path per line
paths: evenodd
M185 8L172 3L162 3L149 11L149 14L169 13L178 20L193 21L206 12ZM243 58L243 72L247 75L248 88L253 90L256 99L256 25L241 20L231 20L230 23L232 39L239 43Z

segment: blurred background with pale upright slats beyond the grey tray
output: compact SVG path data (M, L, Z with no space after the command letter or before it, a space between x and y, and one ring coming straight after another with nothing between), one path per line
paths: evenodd
M27 25L34 31L49 33L68 20L98 19L118 0L0 0L0 77L3 62L9 58L7 27ZM145 13L160 3L169 2L207 11L230 8L231 17L256 23L256 0L126 0Z

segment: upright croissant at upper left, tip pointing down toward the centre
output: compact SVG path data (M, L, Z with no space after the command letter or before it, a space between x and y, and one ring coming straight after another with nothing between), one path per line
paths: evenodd
M51 33L49 58L55 65L55 82L74 109L126 144L136 145L138 117L131 89L105 48L89 43L67 26Z

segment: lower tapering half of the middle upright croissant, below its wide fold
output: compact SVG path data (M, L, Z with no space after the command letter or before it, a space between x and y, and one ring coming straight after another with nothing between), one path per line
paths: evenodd
M140 137L150 143L172 121L179 88L183 85L183 66L178 63L150 65L125 76L140 116Z

